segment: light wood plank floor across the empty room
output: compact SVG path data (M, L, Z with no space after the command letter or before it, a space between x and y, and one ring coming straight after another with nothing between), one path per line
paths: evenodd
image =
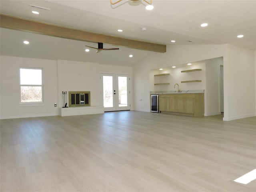
M256 118L123 111L1 120L1 192L255 192Z

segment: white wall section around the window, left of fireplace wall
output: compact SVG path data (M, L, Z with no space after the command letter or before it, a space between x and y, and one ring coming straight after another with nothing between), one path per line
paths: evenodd
M1 56L1 119L58 115L57 62ZM44 104L40 106L20 105L19 67L42 68Z

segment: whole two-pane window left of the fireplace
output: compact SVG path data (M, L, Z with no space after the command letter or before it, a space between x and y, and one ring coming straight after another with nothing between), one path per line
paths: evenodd
M43 102L42 69L20 68L20 102Z

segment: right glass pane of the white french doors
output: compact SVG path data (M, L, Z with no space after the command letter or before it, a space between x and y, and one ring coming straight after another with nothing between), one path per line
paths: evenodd
M127 106L127 77L118 76L118 106Z

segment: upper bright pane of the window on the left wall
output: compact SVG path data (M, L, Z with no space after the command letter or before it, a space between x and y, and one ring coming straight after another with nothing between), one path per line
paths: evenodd
M42 69L20 68L21 85L42 85Z

